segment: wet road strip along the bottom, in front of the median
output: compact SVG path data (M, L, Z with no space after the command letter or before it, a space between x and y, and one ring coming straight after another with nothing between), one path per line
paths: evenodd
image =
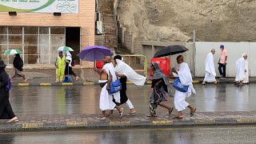
M255 143L255 126L190 127L172 129L65 130L0 133L5 144L188 144Z

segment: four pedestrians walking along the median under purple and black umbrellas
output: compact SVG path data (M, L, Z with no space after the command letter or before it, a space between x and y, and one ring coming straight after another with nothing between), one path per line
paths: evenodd
M158 106L162 106L168 110L168 115L172 114L174 107L168 106L166 95L171 96L169 78L162 72L159 68L158 63L153 62L150 65L150 69L154 71L154 76L152 78L146 78L142 75L137 74L130 66L122 61L122 56L114 56L114 62L111 61L110 56L103 58L104 66L102 70L94 68L94 70L100 75L100 80L98 81L99 85L102 87L102 91L99 99L99 108L102 110L102 115L99 119L106 119L111 116L114 112L114 109L118 110L120 117L123 115L123 108L121 105L126 103L130 108L130 112L127 115L135 115L136 110L134 110L133 104L130 102L129 98L126 95L126 81L129 80L137 86L143 86L146 80L151 80L151 94L150 94L150 117L156 117L156 109ZM192 93L195 94L195 90L192 84L192 76L190 73L190 68L184 62L184 58L180 55L177 58L179 69L173 69L174 77L171 78L180 78L182 85L188 86L186 92L181 92L179 90L175 91L174 94L174 106L178 110L178 115L174 118L183 118L182 110L185 110L186 107L190 108L190 116L193 116L196 108L191 106L186 102L186 98L190 97ZM122 83L122 90L110 94L111 82L117 81L120 78ZM106 114L106 110L110 110Z

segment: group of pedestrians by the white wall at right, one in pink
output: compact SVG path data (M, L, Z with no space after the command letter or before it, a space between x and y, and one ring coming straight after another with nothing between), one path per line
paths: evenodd
M224 49L224 46L220 46L221 56L218 60L218 71L220 74L220 79L226 79L226 65L227 65L227 51ZM206 82L214 82L216 81L216 72L214 68L214 54L215 50L210 50L210 53L206 56L205 61L205 78L202 82L202 85L205 85ZM235 84L243 85L245 83L249 83L249 64L247 61L247 54L242 54L242 58L239 58L235 63L236 67L236 77L234 79Z

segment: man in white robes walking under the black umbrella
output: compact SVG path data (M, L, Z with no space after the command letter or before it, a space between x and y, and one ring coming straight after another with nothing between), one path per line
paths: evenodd
M178 115L174 118L183 118L182 110L185 110L186 107L190 108L190 117L194 115L196 107L191 106L188 102L186 102L186 98L190 97L192 93L195 94L194 86L192 84L192 75L190 73L190 67L186 62L183 62L183 56L179 55L177 57L177 62L179 65L179 69L172 69L174 76L178 76L183 86L189 86L186 93L176 90L174 94L174 106L178 110Z

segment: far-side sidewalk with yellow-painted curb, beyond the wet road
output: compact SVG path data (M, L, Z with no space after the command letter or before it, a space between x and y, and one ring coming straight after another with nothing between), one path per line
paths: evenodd
M8 74L11 74L11 69L6 69ZM55 69L25 69L23 73L28 78L27 83L23 83L22 78L14 78L13 86L86 86L98 85L99 75L93 69L74 69L74 73L79 76L79 80L75 81L72 77L72 82L69 83L54 83L55 82ZM193 78L194 83L202 83L203 78ZM221 83L234 83L234 78L227 78L220 80ZM173 82L173 81L170 81ZM130 82L128 82L130 83ZM150 84L151 82L146 82ZM250 83L256 83L256 78L250 78Z

